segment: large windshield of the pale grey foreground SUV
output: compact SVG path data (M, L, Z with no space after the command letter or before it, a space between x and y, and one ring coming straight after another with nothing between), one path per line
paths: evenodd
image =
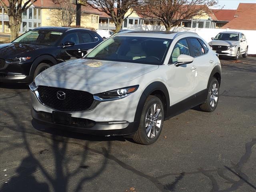
M85 58L160 65L171 42L171 39L117 36L102 42Z

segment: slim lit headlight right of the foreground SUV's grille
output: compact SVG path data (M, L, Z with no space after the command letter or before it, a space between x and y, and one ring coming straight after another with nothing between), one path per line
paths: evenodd
M139 85L135 85L94 94L94 99L99 101L121 99L135 92L138 89L138 87Z

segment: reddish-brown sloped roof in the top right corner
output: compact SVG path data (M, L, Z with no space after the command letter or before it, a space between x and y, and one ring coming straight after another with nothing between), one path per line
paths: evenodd
M256 3L240 3L235 18L222 28L256 30Z

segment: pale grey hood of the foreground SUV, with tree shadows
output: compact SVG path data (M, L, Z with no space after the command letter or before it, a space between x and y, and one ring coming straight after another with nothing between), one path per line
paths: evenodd
M157 68L150 64L77 59L50 67L41 76L55 82L110 86L132 81Z

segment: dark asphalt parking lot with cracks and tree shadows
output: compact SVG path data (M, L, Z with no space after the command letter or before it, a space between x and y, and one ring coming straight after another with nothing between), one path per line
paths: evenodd
M0 88L0 191L256 191L256 58L221 60L217 109L164 122L150 146L43 127L26 85Z

